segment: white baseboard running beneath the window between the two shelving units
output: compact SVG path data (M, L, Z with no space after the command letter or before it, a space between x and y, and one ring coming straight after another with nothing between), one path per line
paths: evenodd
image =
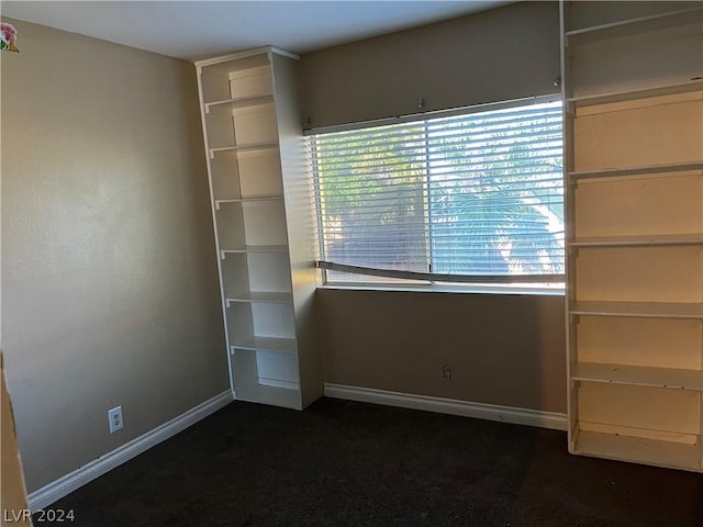
M362 403L384 404L402 408L424 410L439 414L460 415L478 419L500 421L515 425L537 426L554 430L567 430L567 415L556 412L499 406L496 404L470 403L456 399L412 395L409 393L389 392L372 388L347 386L325 383L325 396L346 399Z

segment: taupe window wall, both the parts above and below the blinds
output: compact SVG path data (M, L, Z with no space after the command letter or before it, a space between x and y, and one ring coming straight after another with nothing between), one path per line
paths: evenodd
M558 92L557 2L303 55L311 126ZM566 412L563 296L320 290L325 382ZM444 365L454 373L442 375Z

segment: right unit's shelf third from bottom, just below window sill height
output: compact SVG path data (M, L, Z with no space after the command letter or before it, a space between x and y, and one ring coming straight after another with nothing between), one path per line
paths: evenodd
M576 302L571 315L639 318L703 318L703 304L671 302Z

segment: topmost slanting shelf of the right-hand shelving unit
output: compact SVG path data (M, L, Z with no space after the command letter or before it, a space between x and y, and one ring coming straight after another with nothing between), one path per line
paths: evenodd
M638 33L695 24L696 20L693 15L702 12L703 10L700 7L695 7L567 31L563 35L567 46L580 46L611 38L632 36Z

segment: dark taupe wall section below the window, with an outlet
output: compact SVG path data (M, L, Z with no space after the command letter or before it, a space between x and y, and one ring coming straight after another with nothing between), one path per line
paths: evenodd
M325 382L566 413L563 301L317 290Z

